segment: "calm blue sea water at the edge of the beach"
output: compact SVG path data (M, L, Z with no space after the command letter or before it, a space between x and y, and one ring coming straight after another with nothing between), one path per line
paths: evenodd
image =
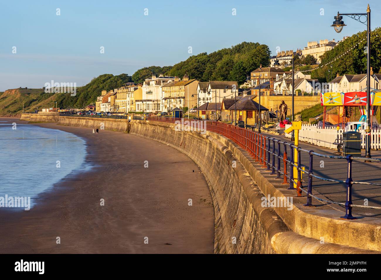
M30 197L34 206L39 194L69 173L88 169L82 138L34 125L12 128L0 121L0 197Z

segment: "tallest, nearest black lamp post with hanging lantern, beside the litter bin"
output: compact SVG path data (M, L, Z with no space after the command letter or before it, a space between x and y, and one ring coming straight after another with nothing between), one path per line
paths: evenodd
M337 12L335 16L335 21L331 26L335 28L337 33L343 30L344 24L343 16L348 16L356 21L361 22L367 26L367 128L365 129L365 157L370 158L370 7L368 4L367 13L356 13L356 14L340 14ZM365 18L364 18L365 17ZM344 116L343 116L344 117Z

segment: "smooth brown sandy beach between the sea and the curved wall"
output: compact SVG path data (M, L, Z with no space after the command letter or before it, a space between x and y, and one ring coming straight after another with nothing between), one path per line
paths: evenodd
M92 168L66 176L29 211L0 208L0 253L213 253L211 195L186 155L132 134L32 125L85 139Z

